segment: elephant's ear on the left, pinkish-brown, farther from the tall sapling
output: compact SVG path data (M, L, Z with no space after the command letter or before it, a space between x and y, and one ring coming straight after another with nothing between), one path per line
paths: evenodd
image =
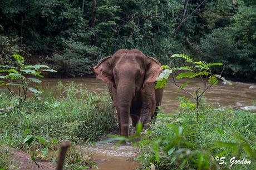
M105 57L99 61L97 66L93 67L96 77L106 83L114 83L111 56Z

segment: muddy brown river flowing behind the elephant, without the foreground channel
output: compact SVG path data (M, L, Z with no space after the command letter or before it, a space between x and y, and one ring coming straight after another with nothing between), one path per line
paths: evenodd
M76 84L83 84L90 91L101 93L107 90L107 84L96 78L45 78L41 84L42 88L55 91L58 81L63 83L75 82ZM186 82L186 80L178 81L179 84ZM232 86L225 85L219 82L218 85L213 86L205 94L206 102L213 104L216 108L234 107L239 109L256 109L256 84L232 82ZM202 86L199 79L194 79L186 87L189 92L193 89ZM183 91L177 91L177 87L169 82L164 88L164 97L161 106L164 113L175 113L176 108L179 107L177 97L186 96L188 94ZM191 99L191 102L193 99Z

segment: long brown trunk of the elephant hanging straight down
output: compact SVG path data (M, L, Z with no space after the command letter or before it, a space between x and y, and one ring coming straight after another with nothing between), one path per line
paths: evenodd
M121 136L129 136L130 109L134 95L135 87L132 85L132 83L122 83L117 87Z

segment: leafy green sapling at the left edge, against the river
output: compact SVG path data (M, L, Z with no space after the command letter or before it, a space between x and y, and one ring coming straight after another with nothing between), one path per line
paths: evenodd
M29 82L41 83L40 79L27 77L33 76L42 78L41 71L56 71L53 69L43 69L50 68L43 64L26 65L24 64L24 57L18 54L13 54L13 58L15 59L17 67L0 65L0 86L7 87L12 96L18 98L20 102L26 101L27 91L32 92L40 99L39 94L42 92L33 87L28 87Z

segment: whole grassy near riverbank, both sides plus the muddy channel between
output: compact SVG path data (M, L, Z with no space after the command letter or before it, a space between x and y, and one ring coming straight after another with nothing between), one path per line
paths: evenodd
M107 134L118 134L115 110L106 93L96 94L85 86L61 82L54 92L45 91L41 100L28 98L24 103L2 93L0 108L11 107L0 112L2 147L13 147L36 159L56 162L60 142L69 140L73 147L67 155L66 169L95 164L99 164L100 169L106 164L117 167L115 162L123 162L119 166L140 164L140 169L151 166L156 169L179 169L182 166L209 169L210 164L230 168L211 159L216 156L227 159L240 156L239 159L245 157L252 161L250 165L235 165L237 169L256 166L256 115L247 111L216 109L204 103L200 107L199 122L196 122L193 103L180 100L174 114L159 114L149 123L149 129L135 142L139 150L134 152L129 150L131 146L116 150L115 143L88 145L102 140ZM218 145L218 142L222 143ZM7 155L4 149L0 152ZM126 159L135 159L137 163ZM12 162L6 162L7 165L0 166L16 169L12 168Z

